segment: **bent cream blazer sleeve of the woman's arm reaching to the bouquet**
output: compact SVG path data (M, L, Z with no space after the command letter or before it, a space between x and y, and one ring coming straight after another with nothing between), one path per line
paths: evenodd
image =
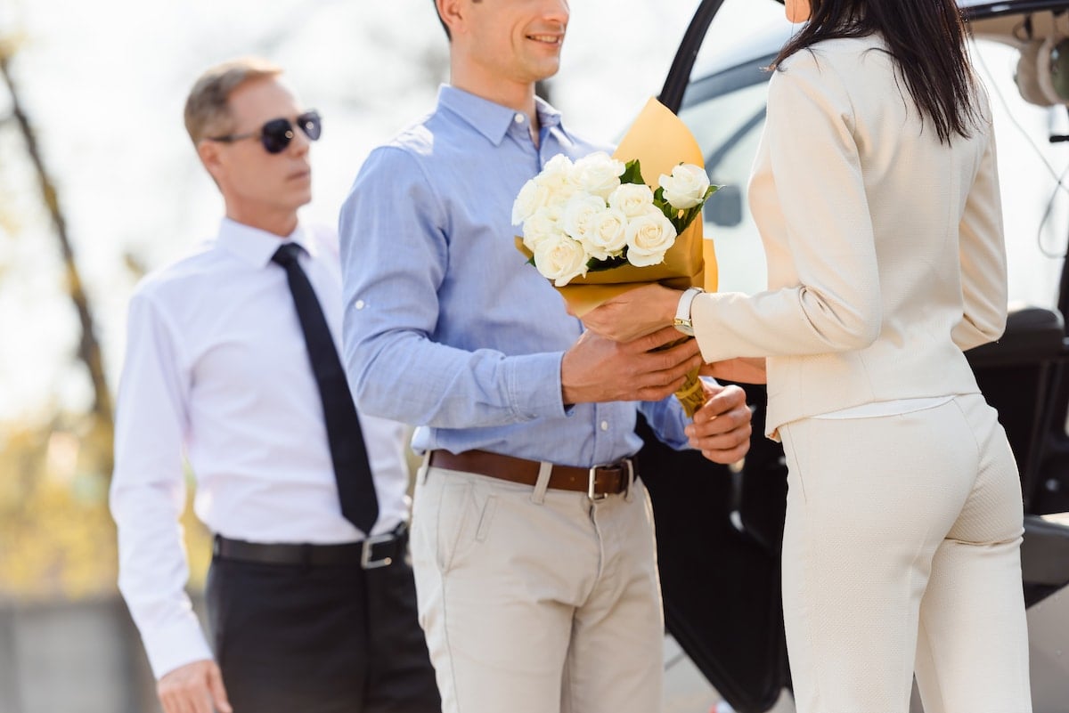
M692 315L707 362L855 350L879 335L872 220L852 128L850 97L828 63L801 51L775 72L762 141L797 284L699 295Z

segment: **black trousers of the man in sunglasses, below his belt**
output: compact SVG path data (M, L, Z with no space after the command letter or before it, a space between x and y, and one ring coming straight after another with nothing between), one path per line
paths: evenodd
M440 713L404 561L215 557L207 609L234 713Z

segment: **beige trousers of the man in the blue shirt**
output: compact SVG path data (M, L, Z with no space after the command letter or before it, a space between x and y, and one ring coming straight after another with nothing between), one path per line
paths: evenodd
M412 555L445 713L656 713L664 621L646 489L591 502L420 470Z

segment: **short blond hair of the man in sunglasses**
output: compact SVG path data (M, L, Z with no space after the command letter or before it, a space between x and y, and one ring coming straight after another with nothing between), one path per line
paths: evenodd
M231 130L229 101L234 90L247 82L272 79L280 74L281 67L259 57L242 57L206 69L186 98L186 131L193 145Z

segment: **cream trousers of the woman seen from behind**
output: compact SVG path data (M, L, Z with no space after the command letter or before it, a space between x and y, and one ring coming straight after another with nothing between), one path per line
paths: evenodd
M1028 713L1021 489L979 395L781 426L799 713Z

